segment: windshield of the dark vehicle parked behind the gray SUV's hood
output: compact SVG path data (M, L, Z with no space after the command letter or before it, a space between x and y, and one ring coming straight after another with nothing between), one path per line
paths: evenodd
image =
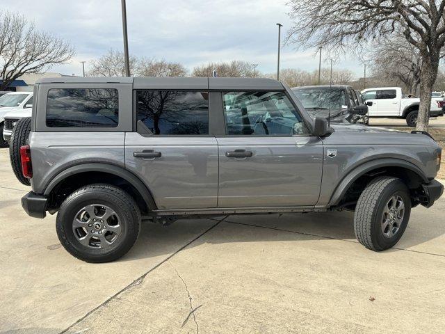
M305 109L348 109L345 90L330 87L293 90Z

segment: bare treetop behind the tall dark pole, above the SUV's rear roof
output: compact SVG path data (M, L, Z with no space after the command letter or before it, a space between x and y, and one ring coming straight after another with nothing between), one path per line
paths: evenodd
M129 57L130 72L133 74L137 66L137 58ZM90 61L90 70L88 77L125 77L124 53L110 49L99 59Z

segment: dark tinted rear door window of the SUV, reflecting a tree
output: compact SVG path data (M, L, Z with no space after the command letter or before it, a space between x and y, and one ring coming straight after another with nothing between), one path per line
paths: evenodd
M209 134L209 93L138 90L138 120L153 134Z

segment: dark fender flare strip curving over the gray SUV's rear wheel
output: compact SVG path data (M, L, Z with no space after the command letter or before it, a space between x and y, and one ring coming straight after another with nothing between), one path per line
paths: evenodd
M122 179L129 182L129 184L131 184L140 193L149 211L157 209L156 202L154 202L151 191L149 191L147 186L140 180L139 177L120 166L105 163L77 164L62 170L44 187L43 195L49 196L57 184L65 180L67 177L86 172L102 172L122 177Z

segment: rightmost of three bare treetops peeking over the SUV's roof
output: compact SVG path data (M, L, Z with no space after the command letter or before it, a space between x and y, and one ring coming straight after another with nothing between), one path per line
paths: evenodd
M231 61L230 63L208 63L193 68L193 77L211 77L213 70L216 70L218 77L254 77L254 67L247 61ZM257 77L259 73L257 72Z

